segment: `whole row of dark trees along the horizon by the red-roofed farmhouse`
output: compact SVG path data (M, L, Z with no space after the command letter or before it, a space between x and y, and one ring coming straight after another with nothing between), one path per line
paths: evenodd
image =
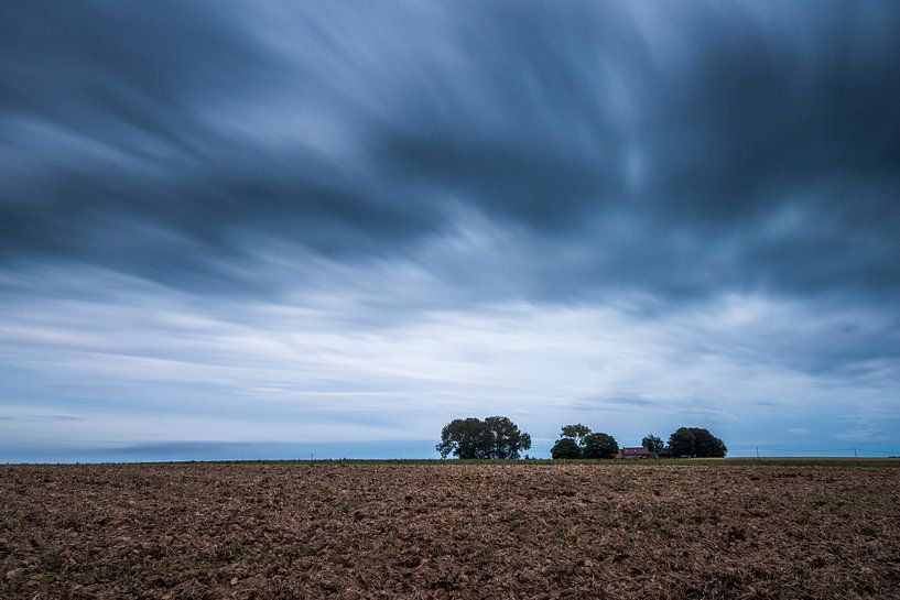
M620 455L616 438L603 432L592 432L581 423L564 425L560 439L550 454L553 459L616 458L722 458L728 452L725 444L702 427L679 427L662 438L648 434L642 449ZM441 430L435 446L442 458L454 456L467 460L509 460L522 458L531 449L531 436L506 416L456 418ZM524 455L524 458L529 458Z

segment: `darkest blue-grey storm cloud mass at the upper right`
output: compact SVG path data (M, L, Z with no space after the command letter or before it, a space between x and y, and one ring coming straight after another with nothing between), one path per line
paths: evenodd
M695 24L703 55L650 121L655 214L737 240L751 282L896 293L899 13L800 8L768 15L771 29Z

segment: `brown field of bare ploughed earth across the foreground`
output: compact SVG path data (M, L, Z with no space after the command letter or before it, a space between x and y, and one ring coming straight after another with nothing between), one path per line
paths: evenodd
M839 462L0 466L0 598L900 598L899 500Z

